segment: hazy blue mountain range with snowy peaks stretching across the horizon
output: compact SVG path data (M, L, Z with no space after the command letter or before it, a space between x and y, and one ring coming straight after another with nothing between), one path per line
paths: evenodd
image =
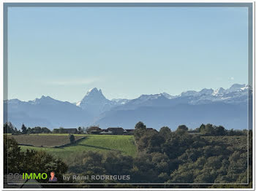
M197 128L202 123L244 129L248 126L249 95L248 85L234 84L227 89L205 88L180 95L159 93L109 100L95 87L73 104L44 95L34 101L4 101L4 121L12 122L17 128L23 123L48 128L89 125L134 128L138 121L143 121L148 128L156 129L168 126L174 130L181 124Z

